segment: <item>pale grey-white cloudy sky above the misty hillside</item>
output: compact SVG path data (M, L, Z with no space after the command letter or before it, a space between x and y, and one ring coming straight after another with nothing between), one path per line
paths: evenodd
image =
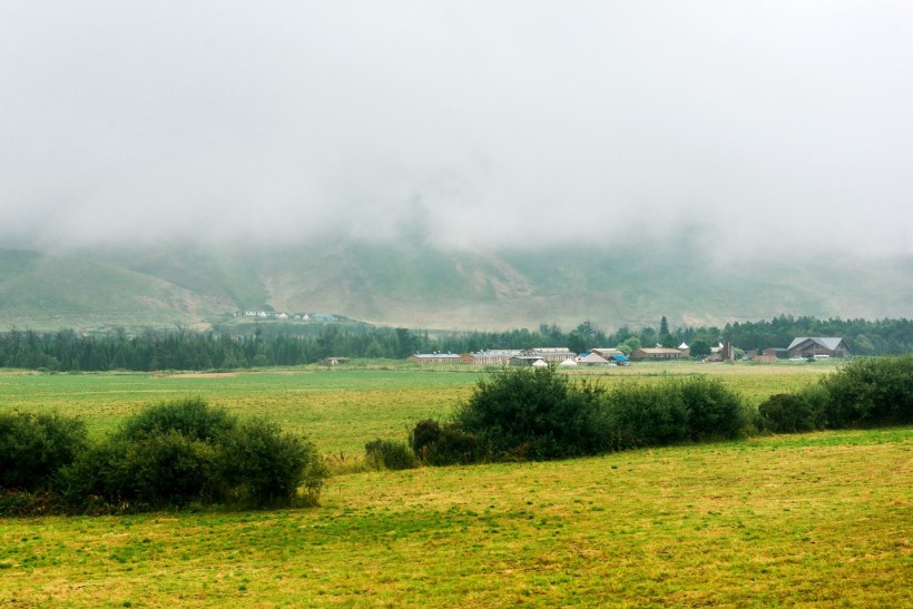
M913 2L3 0L0 246L913 253Z

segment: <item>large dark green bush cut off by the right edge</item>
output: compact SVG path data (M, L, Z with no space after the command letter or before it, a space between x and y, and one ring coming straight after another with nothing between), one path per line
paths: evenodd
M822 385L831 429L913 423L913 355L855 360Z

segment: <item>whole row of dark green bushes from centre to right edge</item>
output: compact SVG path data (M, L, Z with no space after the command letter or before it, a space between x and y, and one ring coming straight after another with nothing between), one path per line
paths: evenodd
M593 455L734 439L757 430L910 423L913 355L853 361L817 385L774 395L758 410L719 381L701 376L609 391L575 382L554 367L504 369L480 380L450 421L419 422L409 443L419 461L445 465Z

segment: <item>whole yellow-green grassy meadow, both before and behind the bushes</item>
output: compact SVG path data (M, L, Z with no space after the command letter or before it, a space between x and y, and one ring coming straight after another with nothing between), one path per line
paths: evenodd
M611 384L708 373L757 403L832 370L592 374ZM102 433L141 405L203 395L354 460L369 440L445 416L480 372L0 373L0 409L78 412ZM0 603L903 607L913 605L911 489L910 428L336 473L314 509L0 519Z

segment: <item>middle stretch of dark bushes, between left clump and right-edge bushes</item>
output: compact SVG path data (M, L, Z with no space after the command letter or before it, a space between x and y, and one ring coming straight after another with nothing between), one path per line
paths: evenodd
M703 376L608 391L553 367L503 369L477 383L451 422L418 423L410 443L429 464L543 460L733 439L753 422L737 393Z

